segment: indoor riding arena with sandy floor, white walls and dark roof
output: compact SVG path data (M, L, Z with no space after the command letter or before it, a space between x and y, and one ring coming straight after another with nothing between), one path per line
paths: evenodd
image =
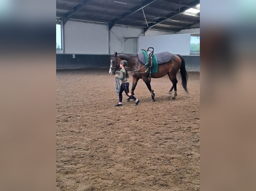
M199 191L200 49L191 50L191 44L198 44L195 38L200 44L200 15L188 24L184 20L192 13L173 13L180 26L172 26L171 19L160 24L148 15L154 14L154 6L179 9L167 1L147 1L152 3L146 6L145 0L131 1L138 5L124 0L84 2L56 1L56 190ZM200 10L200 1L186 2L181 11ZM116 20L110 17L111 7L131 14ZM83 9L98 12L98 17L82 16ZM115 14L122 16L120 10ZM155 16L166 19L163 14ZM144 19L139 27L139 15L156 25ZM178 71L175 99L173 90L168 95L172 83L166 75L151 78L154 102L140 79L134 91L139 104L128 102L123 92L122 106L114 106L119 99L115 76L109 74L111 55L136 54L149 47L155 54L170 52L184 58L188 92ZM131 92L132 74L128 81Z

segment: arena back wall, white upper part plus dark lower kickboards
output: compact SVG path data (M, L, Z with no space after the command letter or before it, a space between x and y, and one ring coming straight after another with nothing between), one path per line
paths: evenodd
M180 54L187 70L199 71L200 56L189 55L189 31L187 34L173 34L154 30L143 34L140 28L121 26L114 26L108 31L107 25L68 21L63 32L64 51L56 51L56 69L108 68L111 54L123 52L124 37L138 37L139 50L154 47L155 53L169 51Z

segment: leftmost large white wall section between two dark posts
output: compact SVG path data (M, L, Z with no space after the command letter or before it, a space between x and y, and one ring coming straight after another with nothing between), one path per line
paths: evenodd
M107 25L68 21L64 27L65 53L108 54Z

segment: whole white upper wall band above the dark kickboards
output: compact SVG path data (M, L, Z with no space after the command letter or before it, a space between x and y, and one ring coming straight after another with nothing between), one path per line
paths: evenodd
M68 21L64 26L64 45L67 54L112 54L124 51L124 37L139 37L140 49L154 47L155 53L168 51L173 54L189 55L190 33L200 33L200 29L186 29L179 33ZM180 36L181 35L181 36ZM168 42L168 43L167 43ZM110 52L109 52L110 51ZM56 53L63 53L56 51Z

